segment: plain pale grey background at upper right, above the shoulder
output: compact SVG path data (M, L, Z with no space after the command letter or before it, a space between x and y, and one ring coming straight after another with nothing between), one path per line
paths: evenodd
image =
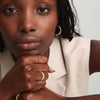
M100 40L100 0L73 0L83 36Z

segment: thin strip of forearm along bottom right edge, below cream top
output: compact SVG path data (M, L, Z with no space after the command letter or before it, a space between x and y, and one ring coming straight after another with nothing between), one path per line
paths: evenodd
M100 100L100 95L89 95L83 97L64 97L61 100Z

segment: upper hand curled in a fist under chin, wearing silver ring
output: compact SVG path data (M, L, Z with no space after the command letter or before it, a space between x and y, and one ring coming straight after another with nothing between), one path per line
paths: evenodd
M48 59L44 56L23 56L15 63L14 67L1 81L1 86L5 93L10 96L25 91L36 91L43 88L48 78L48 72L52 72L47 65ZM41 71L45 74L44 81Z

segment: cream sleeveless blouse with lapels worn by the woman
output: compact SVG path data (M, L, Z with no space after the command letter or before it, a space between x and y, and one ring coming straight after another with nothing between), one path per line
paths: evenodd
M49 74L46 87L66 97L87 95L89 79L90 40L83 37L55 38L50 46L48 65L55 70ZM0 53L0 78L14 65L13 57L6 50Z

